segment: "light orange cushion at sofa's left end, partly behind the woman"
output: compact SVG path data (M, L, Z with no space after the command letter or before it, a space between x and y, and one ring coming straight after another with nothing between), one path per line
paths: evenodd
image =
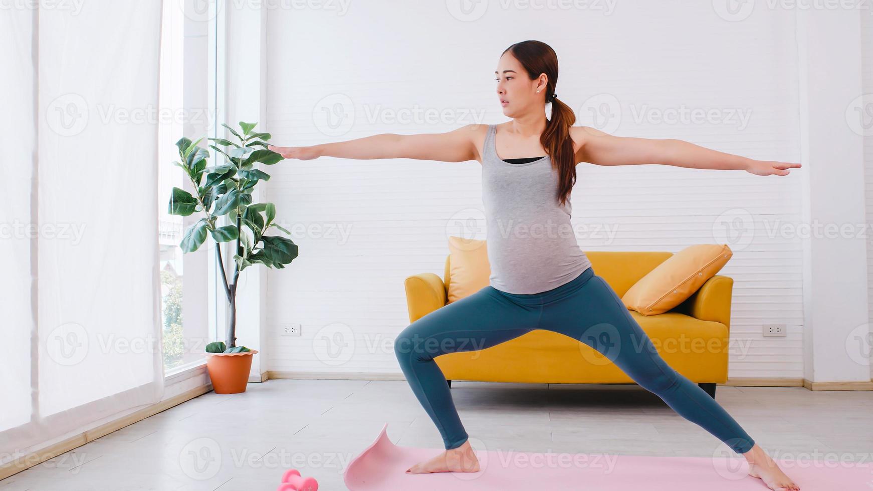
M447 288L448 302L467 297L488 286L491 263L485 241L449 237L450 280Z

